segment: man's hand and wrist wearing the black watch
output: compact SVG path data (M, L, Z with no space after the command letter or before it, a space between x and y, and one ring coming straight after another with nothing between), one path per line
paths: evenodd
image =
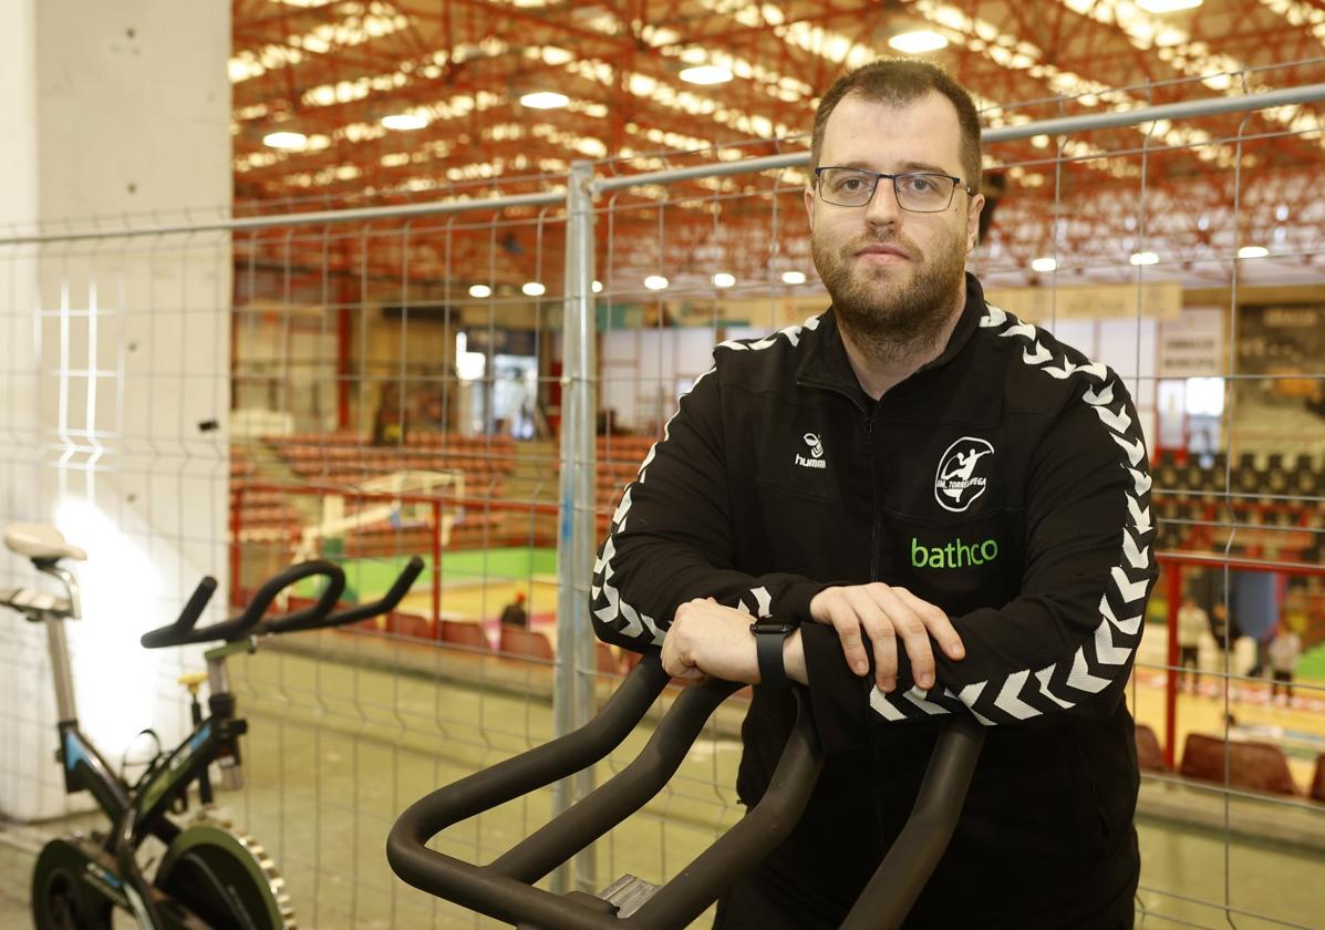
M722 607L712 597L692 600L677 608L672 627L662 639L662 668L676 678L714 678L759 682L759 658L755 650L749 613ZM782 650L787 677L806 684L806 657L800 632L787 637Z

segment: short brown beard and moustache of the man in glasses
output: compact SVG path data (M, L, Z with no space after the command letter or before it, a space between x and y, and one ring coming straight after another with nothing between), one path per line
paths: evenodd
M910 260L871 266L855 256L867 245L890 245ZM954 237L924 254L905 236L860 236L836 248L811 233L815 269L832 297L833 313L860 347L882 359L905 359L934 348L951 319L966 274L965 242ZM910 274L889 281L898 272Z

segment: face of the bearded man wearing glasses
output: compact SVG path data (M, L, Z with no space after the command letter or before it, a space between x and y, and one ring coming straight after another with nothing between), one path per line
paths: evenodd
M957 109L938 91L901 107L847 97L824 127L819 164L925 171L969 184L961 138ZM881 347L931 344L962 294L983 204L958 188L941 212L904 211L888 179L864 207L836 207L806 191L815 268L843 323Z

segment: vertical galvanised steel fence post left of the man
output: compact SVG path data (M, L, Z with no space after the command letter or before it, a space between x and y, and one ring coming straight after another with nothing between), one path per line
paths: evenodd
M594 310L594 203L590 162L571 166L566 192L566 284L562 326L560 514L556 538L556 665L553 734L562 737L594 715L595 643L588 619L588 584L596 547L594 530L596 321ZM553 787L553 815L594 788L592 770ZM575 884L595 892L594 853L575 857ZM566 866L553 873L553 890L568 890Z

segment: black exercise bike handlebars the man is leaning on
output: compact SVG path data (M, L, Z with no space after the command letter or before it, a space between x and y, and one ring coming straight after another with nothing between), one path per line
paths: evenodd
M656 795L705 721L741 685L716 678L688 685L632 763L488 865L425 845L452 824L599 762L640 723L668 681L659 656L645 656L579 730L415 801L387 837L392 870L420 890L523 930L688 926L790 835L810 801L823 755L802 688L795 689L795 727L763 798L664 885L627 874L598 896L578 890L558 896L534 886ZM970 717L945 726L910 819L856 900L844 930L901 926L947 848L983 742L984 729Z

